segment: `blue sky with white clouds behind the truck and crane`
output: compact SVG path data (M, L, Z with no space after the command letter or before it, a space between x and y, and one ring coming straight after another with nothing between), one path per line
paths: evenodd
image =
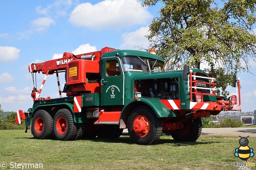
M4 111L32 107L28 64L100 50L148 48L144 37L160 4L142 8L137 0L0 1L0 104ZM250 61L256 75L256 62ZM62 76L62 75L60 75ZM240 73L242 110L256 110L256 77ZM44 75L38 75L40 87ZM64 77L64 76L62 76ZM64 86L64 79L60 84ZM228 87L231 93L235 89ZM41 97L58 97L56 76L48 76Z

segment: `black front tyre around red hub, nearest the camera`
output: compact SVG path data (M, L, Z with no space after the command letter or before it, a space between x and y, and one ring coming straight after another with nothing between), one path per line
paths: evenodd
M138 119L138 117L140 119ZM135 132L135 121L143 119L147 120L145 125L149 127L149 129L145 130L143 133ZM132 114L128 119L128 133L136 144L153 144L160 138L162 134L162 121L161 119L158 119L154 112L148 107L137 107L132 111Z

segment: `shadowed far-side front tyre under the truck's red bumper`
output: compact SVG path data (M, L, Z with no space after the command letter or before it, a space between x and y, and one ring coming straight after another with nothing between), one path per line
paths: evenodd
M178 142L195 142L202 132L201 118L188 119L184 123L184 131L171 133L172 138Z

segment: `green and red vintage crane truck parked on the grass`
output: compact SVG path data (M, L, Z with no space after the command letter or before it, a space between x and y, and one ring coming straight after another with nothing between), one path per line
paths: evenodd
M24 119L26 131L30 126L36 139L117 138L128 128L136 144L152 144L163 132L176 141L193 142L200 136L202 117L241 111L239 78L234 77L238 97L216 95L212 74L188 66L164 71L164 59L154 49L65 52L60 59L30 64L28 70L33 82L37 73L45 77L40 89L34 84L34 104L17 111L16 123ZM46 77L53 74L60 98L41 97Z

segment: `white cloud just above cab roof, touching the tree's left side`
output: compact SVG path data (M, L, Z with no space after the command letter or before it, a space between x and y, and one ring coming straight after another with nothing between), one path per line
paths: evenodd
M133 49L135 46L142 47L144 49L148 48L150 42L145 37L148 34L148 26L141 27L140 29L122 34L122 43L119 49Z

